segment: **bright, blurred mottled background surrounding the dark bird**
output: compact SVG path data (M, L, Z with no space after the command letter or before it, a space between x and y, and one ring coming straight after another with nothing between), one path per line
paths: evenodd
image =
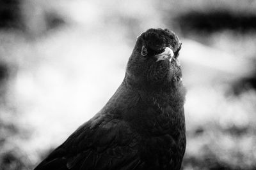
M0 0L0 169L33 169L93 117L151 27L182 41L182 169L256 169L253 0Z

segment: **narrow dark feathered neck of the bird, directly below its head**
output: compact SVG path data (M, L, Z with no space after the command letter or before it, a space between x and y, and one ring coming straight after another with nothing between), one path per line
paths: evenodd
M134 82L125 76L124 81L109 100L116 108L132 108L139 101L148 106L171 106L179 110L184 106L186 90L182 82L163 82L154 85ZM107 104L108 106L108 104Z

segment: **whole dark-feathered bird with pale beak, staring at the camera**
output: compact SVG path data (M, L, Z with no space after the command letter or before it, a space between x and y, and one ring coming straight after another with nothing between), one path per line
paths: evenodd
M169 29L140 34L120 87L35 170L180 169L186 150L181 45Z

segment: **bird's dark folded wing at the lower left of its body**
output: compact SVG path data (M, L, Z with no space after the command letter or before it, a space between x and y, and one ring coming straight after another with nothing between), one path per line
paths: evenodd
M74 132L35 170L135 169L140 136L126 122L99 115Z

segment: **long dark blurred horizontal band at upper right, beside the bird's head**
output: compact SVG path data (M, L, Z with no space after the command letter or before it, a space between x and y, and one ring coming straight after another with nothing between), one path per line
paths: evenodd
M230 11L189 11L175 18L180 30L186 34L232 30L239 33L256 31L256 15L232 13Z

